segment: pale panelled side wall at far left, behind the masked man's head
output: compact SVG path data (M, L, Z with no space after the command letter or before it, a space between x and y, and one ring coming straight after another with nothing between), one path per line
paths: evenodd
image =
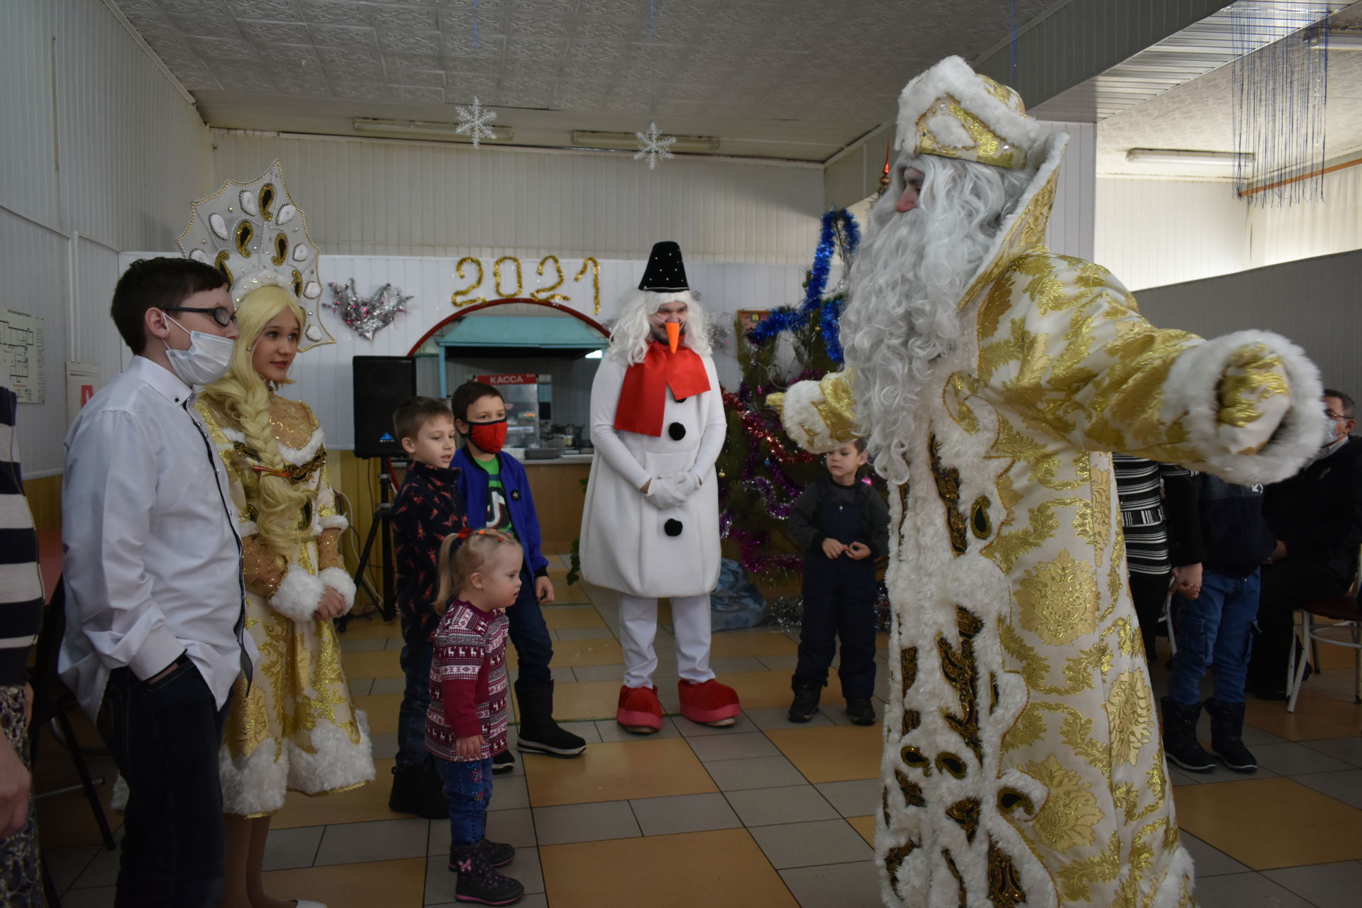
M60 471L65 361L110 377L116 249L166 249L212 181L208 131L99 0L5 0L0 305L42 316L46 403L19 410L26 475Z

